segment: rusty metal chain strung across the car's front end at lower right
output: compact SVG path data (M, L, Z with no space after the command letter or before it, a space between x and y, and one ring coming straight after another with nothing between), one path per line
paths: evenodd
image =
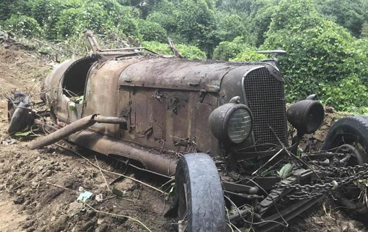
M322 196L325 193L330 193L333 188L337 186L343 186L347 183L352 181L356 181L358 179L367 179L368 178L368 164L363 165L355 165L354 167L341 167L341 168L330 168L330 167L319 167L319 169L325 171L332 171L339 173L348 172L348 171L355 171L358 169L365 168L362 171L355 173L354 175L348 177L329 177L327 176L326 179L331 180L330 183L325 184L315 184L315 185L300 185L300 184L288 184L288 183L277 183L275 186L280 188L290 189L293 188L295 190L301 190L301 194L288 194L286 197L290 200L305 200L305 199L312 199L314 197ZM335 181L335 183L333 183ZM312 192L315 191L315 192Z

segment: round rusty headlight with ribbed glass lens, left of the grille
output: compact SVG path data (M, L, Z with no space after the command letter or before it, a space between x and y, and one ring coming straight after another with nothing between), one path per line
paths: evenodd
M253 117L244 104L227 103L209 115L210 129L220 142L241 143L253 129Z

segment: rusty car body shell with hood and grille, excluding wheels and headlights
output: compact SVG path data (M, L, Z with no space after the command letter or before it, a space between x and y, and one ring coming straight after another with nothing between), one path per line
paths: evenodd
M278 143L270 126L288 144L282 76L268 63L133 56L99 64L84 57L55 68L43 90L61 122L70 123L91 114L127 119L125 126L95 124L71 136L72 141L101 153L136 159L166 174L167 161L160 169L160 164L150 164L161 163L158 157L151 161L146 155L136 156L130 149L107 144L135 143L138 150L143 146L153 149L153 154L161 151L164 160L167 154L162 151L185 152L191 148L219 156L221 145L211 133L208 118L215 108L236 96L240 97L239 103L250 108L254 119L251 135L236 148L263 144L244 151L270 149ZM82 100L73 101L75 96ZM147 153L146 149L141 153Z

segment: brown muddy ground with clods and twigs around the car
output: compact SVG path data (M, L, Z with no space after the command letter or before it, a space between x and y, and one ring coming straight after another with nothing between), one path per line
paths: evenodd
M167 180L126 168L121 162L66 142L60 144L80 155L56 145L29 150L28 141L35 136L15 140L8 137L6 93L23 90L37 98L52 65L51 60L36 53L0 48L0 231L146 231L133 219L151 231L174 231L171 225L174 221L163 216L171 197L152 188L160 188ZM327 112L325 124L313 140L316 146L322 143L329 126L339 117L332 109ZM98 167L110 173L101 172ZM147 185L128 178L117 179L119 175L111 172L139 179ZM109 185L114 180L115 183ZM110 192L113 187L124 193L121 198ZM170 184L160 189L169 192ZM89 206L82 207L77 197L85 191L93 195L87 201ZM326 197L291 221L284 231L368 230Z

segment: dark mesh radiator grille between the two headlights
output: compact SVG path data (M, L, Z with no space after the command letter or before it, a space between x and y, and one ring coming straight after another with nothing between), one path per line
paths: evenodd
M268 69L251 71L244 78L245 98L254 118L254 137L256 144L273 143L279 145L277 137L287 145L287 119L284 96L284 84L273 77ZM257 147L268 150L271 144Z

